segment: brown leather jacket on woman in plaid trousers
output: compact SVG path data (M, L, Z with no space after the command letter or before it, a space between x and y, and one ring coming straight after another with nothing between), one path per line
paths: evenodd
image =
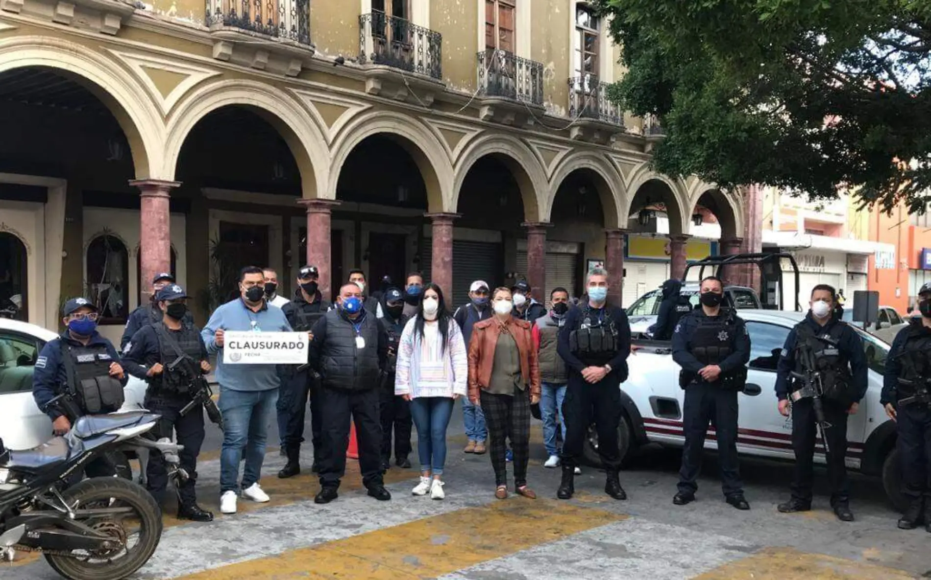
M539 397L540 366L536 349L533 348L533 323L511 316L504 325L518 343L520 375L524 385L530 386L531 397ZM472 327L472 338L468 343L468 398L471 402L479 402L479 389L488 389L492 378L494 347L498 344L501 328L502 323L494 317L475 323Z

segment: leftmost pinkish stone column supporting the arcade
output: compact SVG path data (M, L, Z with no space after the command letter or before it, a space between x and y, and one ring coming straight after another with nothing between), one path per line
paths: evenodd
M140 304L147 302L155 274L171 271L171 224L169 192L181 185L177 181L160 179L138 179L129 185L139 188L140 230L139 253L142 288L139 289Z

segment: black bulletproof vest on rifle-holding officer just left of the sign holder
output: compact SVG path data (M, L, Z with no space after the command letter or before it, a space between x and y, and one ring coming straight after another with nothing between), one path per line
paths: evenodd
M200 376L203 354L200 335L190 326L182 325L178 332L168 330L163 323L153 324L153 327L158 337L158 361L164 370L160 376L153 376L149 384L167 394L187 394Z

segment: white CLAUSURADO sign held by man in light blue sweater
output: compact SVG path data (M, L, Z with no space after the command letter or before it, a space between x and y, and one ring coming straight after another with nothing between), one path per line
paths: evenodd
M223 333L223 364L304 364L307 333Z

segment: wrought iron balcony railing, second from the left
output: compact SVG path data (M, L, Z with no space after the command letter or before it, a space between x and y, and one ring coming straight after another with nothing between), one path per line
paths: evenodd
M442 78L443 35L411 20L372 12L358 17L358 61Z

